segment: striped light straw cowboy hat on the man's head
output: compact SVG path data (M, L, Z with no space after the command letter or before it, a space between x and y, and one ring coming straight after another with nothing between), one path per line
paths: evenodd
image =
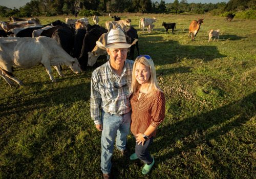
M132 44L126 42L125 35L122 29L111 29L108 35L108 42L106 46L104 46L100 41L96 41L97 46L100 49L124 49L129 48L133 44L135 44L138 39L135 39Z

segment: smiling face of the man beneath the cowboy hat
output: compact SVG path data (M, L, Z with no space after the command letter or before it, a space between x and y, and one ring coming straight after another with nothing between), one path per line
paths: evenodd
M107 49L110 55L110 64L112 66L122 65L127 57L127 49Z

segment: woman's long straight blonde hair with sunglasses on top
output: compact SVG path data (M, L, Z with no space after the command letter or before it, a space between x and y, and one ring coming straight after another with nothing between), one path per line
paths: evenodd
M140 55L135 59L135 62L133 65L133 75L132 75L133 79L132 79L132 85L131 85L131 93L135 94L137 89L139 89L139 86L140 86L139 82L135 78L135 67L137 63L141 63L150 68L150 79L148 79L146 97L151 97L156 91L162 92L157 83L156 69L155 69L155 65L152 58L148 55Z

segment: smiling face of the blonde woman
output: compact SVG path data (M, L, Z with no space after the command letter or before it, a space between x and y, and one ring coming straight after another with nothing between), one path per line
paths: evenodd
M148 79L150 79L150 68L141 63L136 63L135 66L135 78L139 84L148 84Z

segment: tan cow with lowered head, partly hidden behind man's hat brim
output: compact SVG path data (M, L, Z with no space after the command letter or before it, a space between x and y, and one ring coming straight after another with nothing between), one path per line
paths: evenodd
M108 42L108 35L109 35L109 32L104 33L98 39L98 41L100 41L104 46L106 46L106 44ZM108 52L106 52L106 50L100 49L96 45L92 52L88 52L88 63L87 63L87 65L88 66L93 66L96 63L96 61L97 61L97 59L100 55L107 55L108 56L107 59L108 60L110 59L110 56L108 55Z

